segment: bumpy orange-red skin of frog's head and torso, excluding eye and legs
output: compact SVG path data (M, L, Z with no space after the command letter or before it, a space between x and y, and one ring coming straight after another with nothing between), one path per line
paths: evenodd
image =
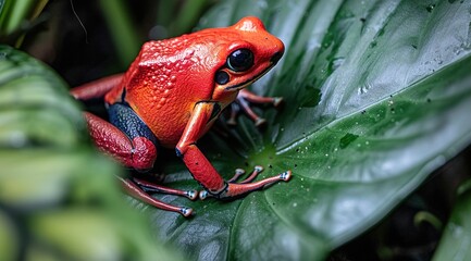
M250 48L255 66L249 72L232 74L225 86L216 85L215 72L224 66L230 53L240 48ZM246 17L227 28L149 41L142 46L122 84L107 94L106 101L110 104L120 101L125 89L126 101L160 144L174 148L197 102L212 101L226 107L246 85L227 88L253 82L271 67L273 54L283 51L283 42L270 35L256 17ZM208 128L197 132L202 135Z

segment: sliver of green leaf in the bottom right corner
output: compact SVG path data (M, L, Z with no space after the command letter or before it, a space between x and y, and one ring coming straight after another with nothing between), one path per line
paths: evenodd
M433 260L471 259L471 182L463 184Z

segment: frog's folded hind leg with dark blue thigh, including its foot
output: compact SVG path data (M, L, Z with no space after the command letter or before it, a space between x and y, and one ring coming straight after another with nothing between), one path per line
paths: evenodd
M113 156L124 165L137 171L149 170L157 158L157 139L147 125L126 104L114 103L108 109L110 122L85 112L90 136L97 147ZM185 196L196 199L195 190L177 190L139 179L121 178L123 188L133 197L156 208L178 212L185 216L193 210L176 207L152 198L146 190ZM140 187L142 186L142 188Z

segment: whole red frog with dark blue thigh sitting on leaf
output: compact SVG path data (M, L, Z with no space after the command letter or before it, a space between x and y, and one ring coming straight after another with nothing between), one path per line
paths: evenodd
M221 112L236 101L256 124L263 122L248 102L277 104L281 98L259 97L244 88L282 58L283 42L269 34L257 17L245 17L226 28L210 28L181 37L146 42L125 74L102 78L71 90L79 100L104 97L109 122L85 112L97 147L137 171L153 166L160 147L175 148L193 177L204 188L201 199L234 198L278 181L290 171L252 182L263 170L256 166L240 183L241 170L228 179L218 173L196 142ZM147 189L196 199L183 191L137 178L121 178L134 197L185 216L193 210L157 200Z

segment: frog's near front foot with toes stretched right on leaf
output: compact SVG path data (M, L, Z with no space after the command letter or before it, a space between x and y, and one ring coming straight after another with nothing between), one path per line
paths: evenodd
M252 181L263 171L262 166L257 165L253 169L253 172L244 181L236 183L237 179L241 175L245 174L245 171L241 169L237 169L235 171L234 176L227 181L226 186L224 189L222 189L219 192L208 192L207 190L202 190L199 192L200 199L206 199L208 197L215 197L215 198L236 198L239 196L244 196L246 194L249 194L255 190L263 189L268 186L273 185L277 182L288 182L289 178L292 178L292 171L285 171L276 176L268 177L259 182L252 183Z

